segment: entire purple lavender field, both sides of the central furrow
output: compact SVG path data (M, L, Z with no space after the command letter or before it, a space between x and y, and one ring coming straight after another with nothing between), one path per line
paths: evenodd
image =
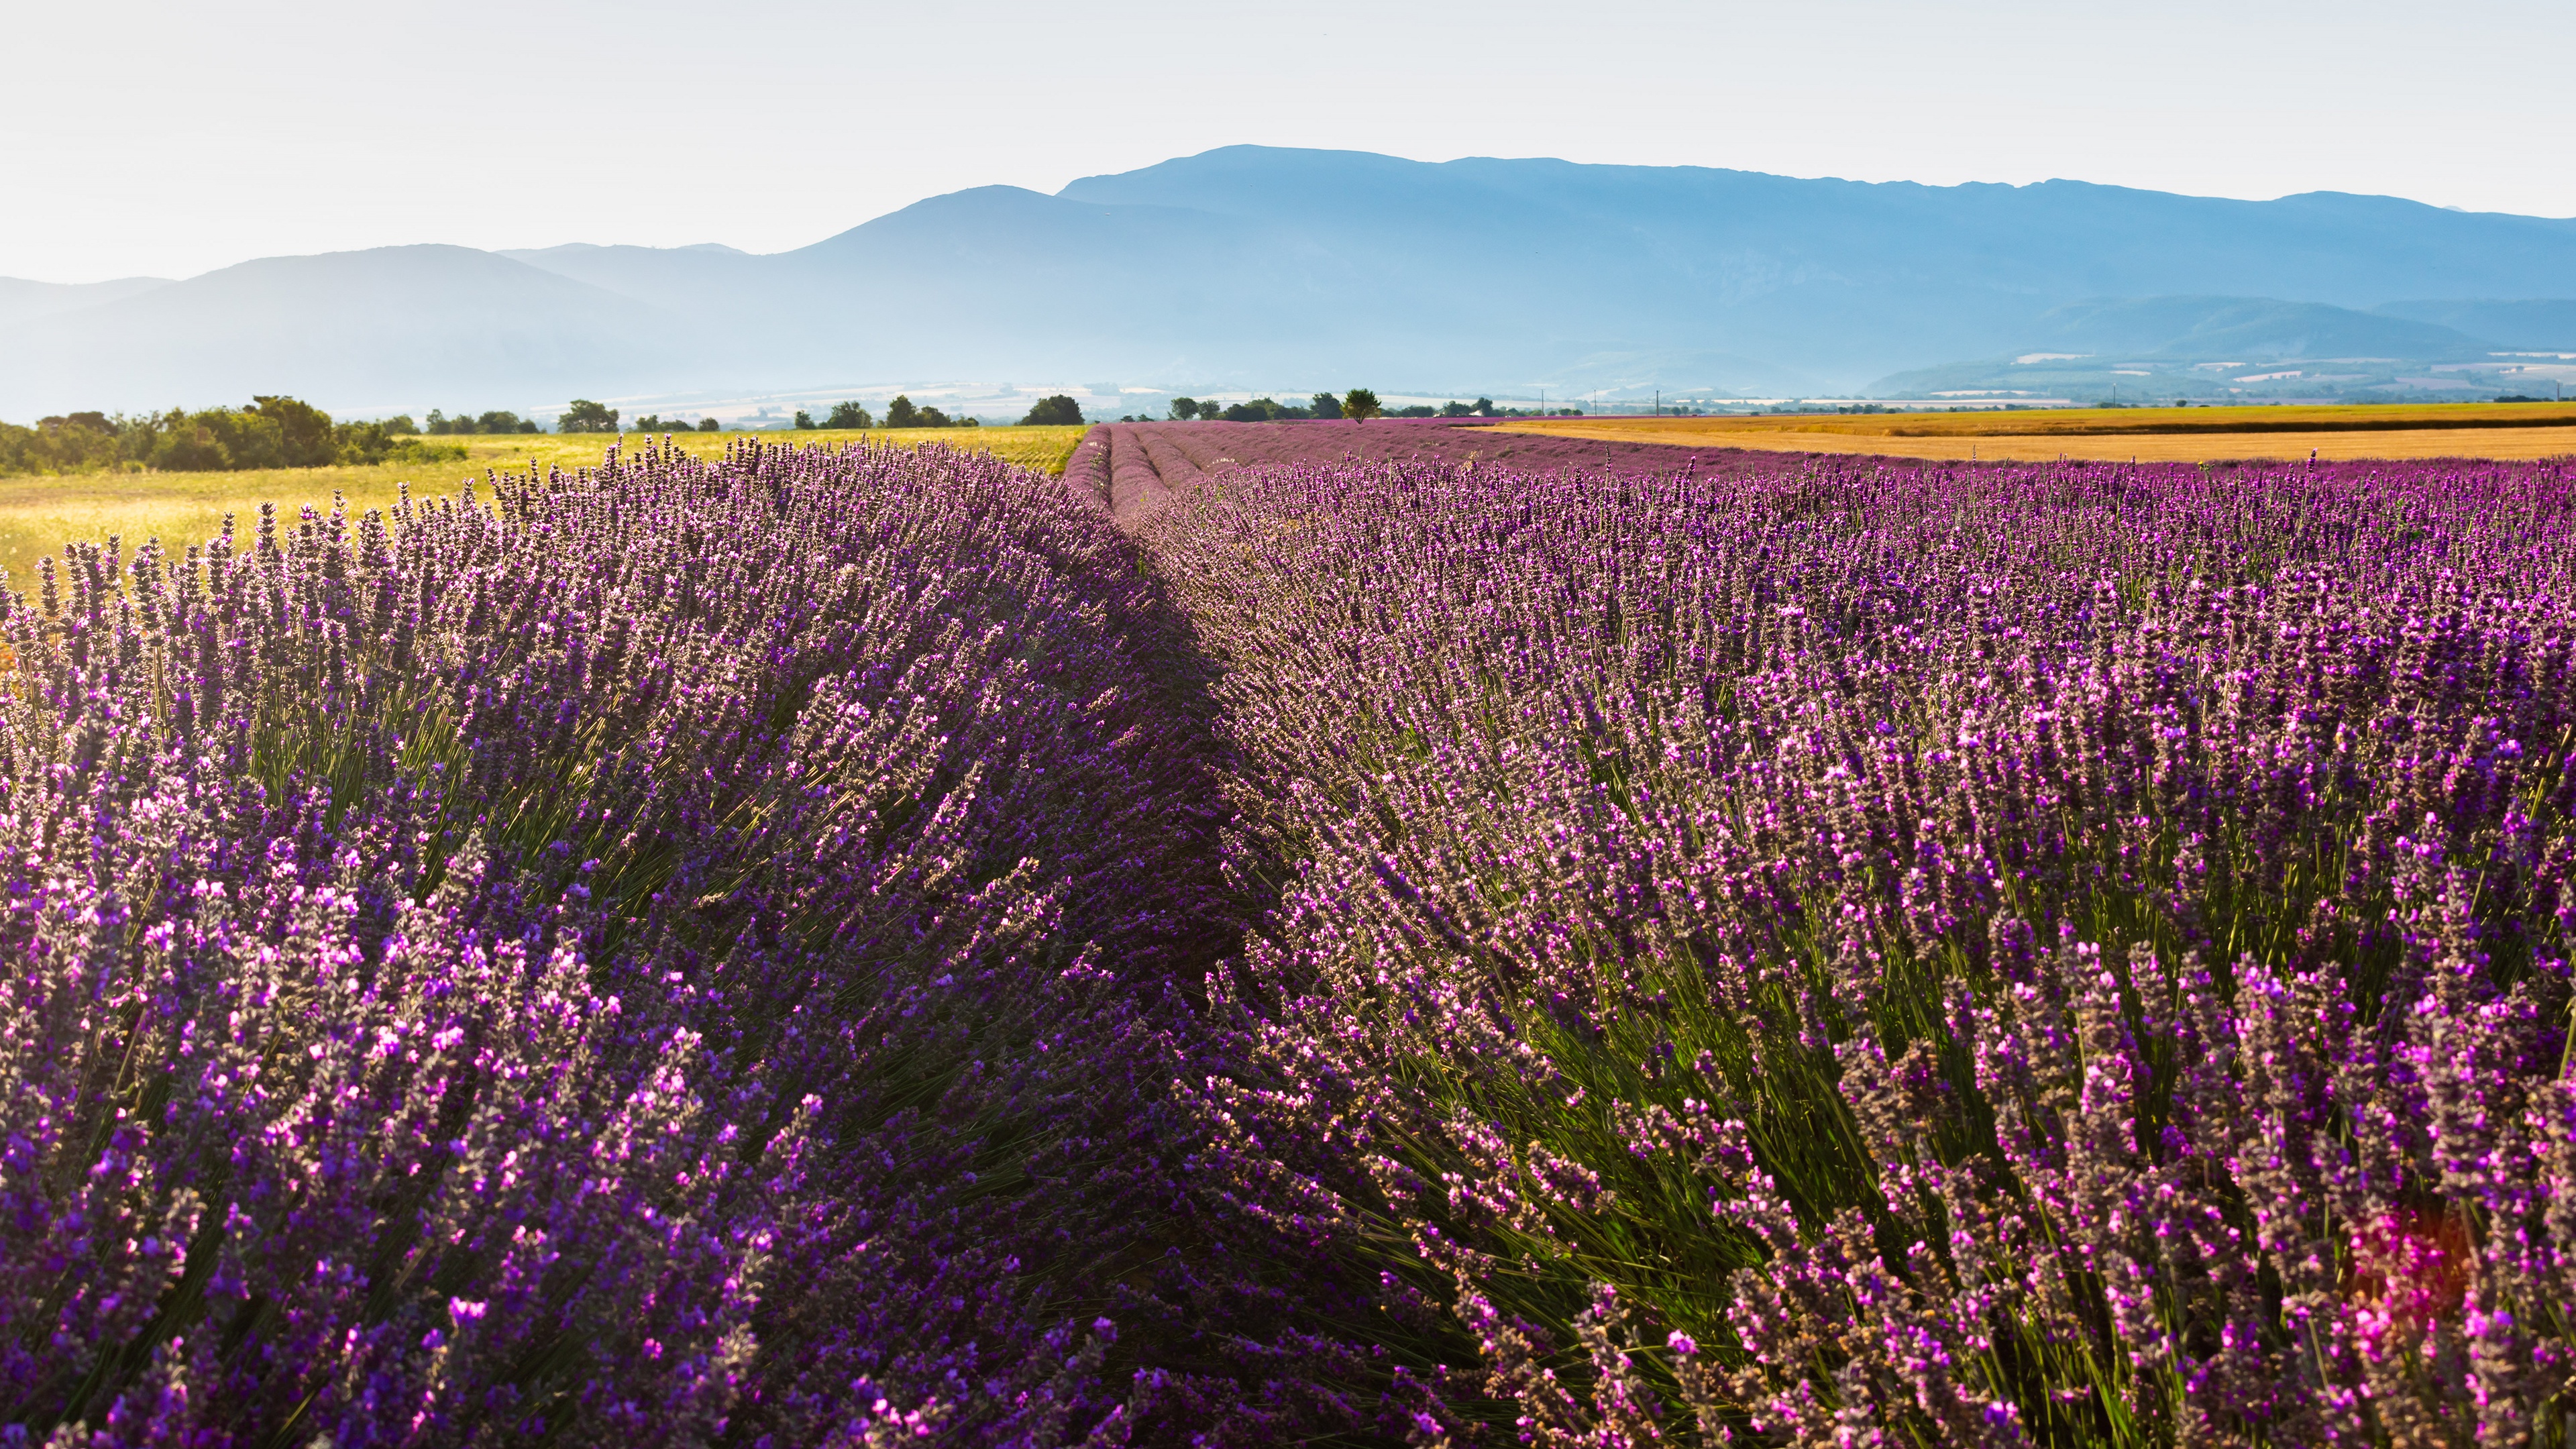
M13 580L0 1434L2566 1441L2558 464L1218 428Z

